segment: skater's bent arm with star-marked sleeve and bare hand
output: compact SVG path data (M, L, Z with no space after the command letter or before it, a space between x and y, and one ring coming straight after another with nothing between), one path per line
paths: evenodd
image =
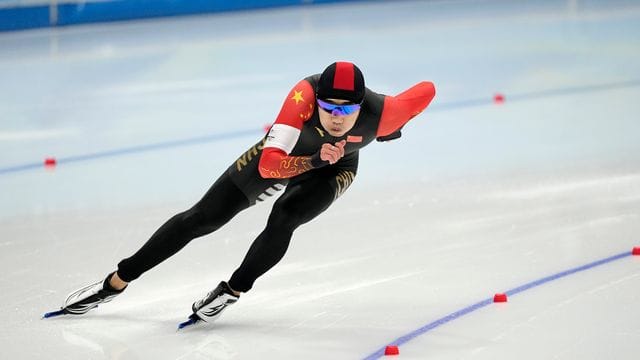
M333 164L344 155L344 144L324 144L313 156L289 156L302 126L315 108L315 91L307 80L291 89L271 126L258 169L263 178L290 178L326 164Z

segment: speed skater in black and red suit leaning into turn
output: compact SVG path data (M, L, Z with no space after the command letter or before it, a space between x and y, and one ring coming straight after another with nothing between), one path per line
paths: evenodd
M216 231L240 211L286 187L267 225L229 281L192 305L211 322L284 256L294 230L325 211L355 179L359 150L374 139L400 137L401 128L435 95L420 82L396 96L364 85L357 66L336 62L298 82L268 134L242 154L192 208L162 225L140 250L95 284L73 292L62 311L84 314L110 301L144 272L194 238Z

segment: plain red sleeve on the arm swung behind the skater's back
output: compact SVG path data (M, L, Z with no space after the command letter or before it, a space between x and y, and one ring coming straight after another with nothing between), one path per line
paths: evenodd
M376 137L387 136L400 129L429 106L435 95L433 83L423 81L396 96L386 96Z

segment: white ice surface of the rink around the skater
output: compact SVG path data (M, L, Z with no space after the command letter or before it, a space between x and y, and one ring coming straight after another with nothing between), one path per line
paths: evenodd
M350 191L217 323L176 332L272 201L112 303L41 320L197 201L293 84L340 59L376 91L429 80L436 98L399 141L362 151ZM398 359L637 359L639 59L638 1L361 2L2 33L0 358L373 359L395 344Z

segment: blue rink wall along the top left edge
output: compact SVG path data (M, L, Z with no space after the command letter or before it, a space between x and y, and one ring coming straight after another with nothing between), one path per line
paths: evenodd
M357 0L0 0L0 31Z

